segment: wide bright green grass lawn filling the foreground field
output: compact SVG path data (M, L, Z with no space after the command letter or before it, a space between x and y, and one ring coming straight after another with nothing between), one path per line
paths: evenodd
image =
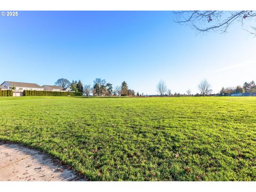
M100 181L256 180L256 97L0 98L0 140Z

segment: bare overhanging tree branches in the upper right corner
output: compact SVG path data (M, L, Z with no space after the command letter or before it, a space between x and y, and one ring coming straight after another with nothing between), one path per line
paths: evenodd
M239 22L242 29L256 35L256 11L174 11L174 15L175 22L201 32L226 33L232 23Z

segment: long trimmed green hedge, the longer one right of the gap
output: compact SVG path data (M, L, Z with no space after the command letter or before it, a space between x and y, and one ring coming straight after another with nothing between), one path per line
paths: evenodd
M24 96L83 96L83 93L75 92L62 92L62 91L30 91L24 90Z

